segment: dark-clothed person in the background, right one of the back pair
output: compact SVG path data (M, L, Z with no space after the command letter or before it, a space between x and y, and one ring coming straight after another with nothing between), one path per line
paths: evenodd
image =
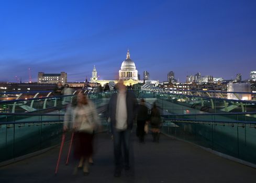
M161 126L161 117L160 111L157 108L157 104L153 104L150 113L150 125L151 125L151 132L153 136L153 142L159 142L160 138L160 126Z

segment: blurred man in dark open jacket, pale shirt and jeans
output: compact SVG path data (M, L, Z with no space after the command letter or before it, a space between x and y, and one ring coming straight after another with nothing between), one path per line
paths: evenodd
M122 147L124 148L124 168L130 169L129 148L130 133L136 116L136 98L132 91L127 91L123 81L116 85L118 92L114 93L108 104L108 117L113 133L115 177L120 177L122 164Z

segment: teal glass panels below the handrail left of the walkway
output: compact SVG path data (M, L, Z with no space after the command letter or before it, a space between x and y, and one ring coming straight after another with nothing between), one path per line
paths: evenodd
M0 123L0 163L60 144L64 115L18 114L14 118L24 120ZM102 130L107 130L105 116L99 119ZM66 139L70 137L71 132L66 132Z

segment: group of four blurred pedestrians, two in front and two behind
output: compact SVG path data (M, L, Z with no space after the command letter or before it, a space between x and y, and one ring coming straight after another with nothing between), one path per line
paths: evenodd
M114 176L119 177L121 170L130 169L129 151L133 121L137 118L137 135L140 142L144 142L145 126L147 127L149 124L151 124L153 141L158 142L161 120L157 106L154 104L150 115L148 115L145 101L141 99L140 105L138 105L135 95L132 91L127 90L123 81L119 81L116 88L118 92L110 97L106 117L110 122L113 135ZM99 124L93 102L87 99L82 92L78 93L76 99L73 98L72 103L66 109L63 126L64 131L72 129L74 132L73 151L74 157L77 159L74 174L80 168L84 175L89 174L89 166L93 164L93 139Z

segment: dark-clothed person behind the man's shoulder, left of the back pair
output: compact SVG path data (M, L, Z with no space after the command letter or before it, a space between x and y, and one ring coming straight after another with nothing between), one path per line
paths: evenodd
M140 105L138 106L137 112L137 135L139 137L139 142L144 142L145 135L145 124L148 120L148 108L145 106L145 100L142 98L140 100Z

